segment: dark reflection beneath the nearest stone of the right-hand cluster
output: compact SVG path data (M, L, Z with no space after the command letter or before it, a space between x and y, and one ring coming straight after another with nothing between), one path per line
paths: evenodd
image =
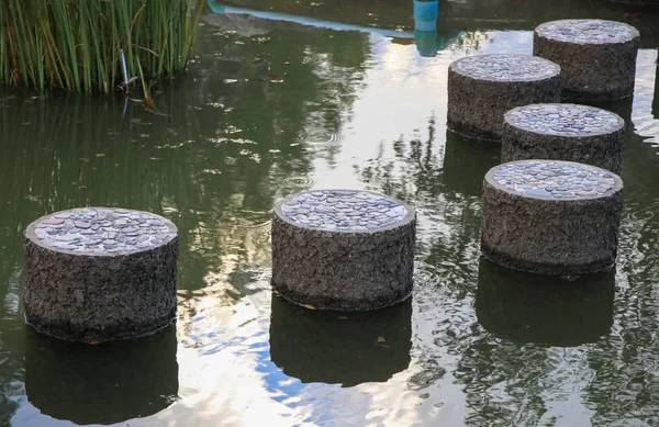
M572 281L505 269L481 258L478 276L478 322L499 338L572 347L611 332L613 271Z

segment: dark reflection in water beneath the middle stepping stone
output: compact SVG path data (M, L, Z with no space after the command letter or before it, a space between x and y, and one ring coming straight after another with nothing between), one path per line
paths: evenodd
M407 369L412 299L364 313L312 311L272 295L270 357L303 383L350 387Z

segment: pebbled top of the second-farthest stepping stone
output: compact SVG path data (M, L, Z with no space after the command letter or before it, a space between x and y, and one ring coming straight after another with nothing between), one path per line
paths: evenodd
M453 65L460 74L489 80L536 80L558 76L560 67L529 55L478 55Z

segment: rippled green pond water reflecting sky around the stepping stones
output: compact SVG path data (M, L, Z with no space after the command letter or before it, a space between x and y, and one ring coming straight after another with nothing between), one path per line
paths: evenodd
M249 14L235 11L250 10ZM596 0L234 0L206 8L159 114L0 89L0 425L659 426L659 13ZM614 270L563 280L480 259L499 148L447 133L448 65L532 53L535 25L641 32ZM423 54L423 55L422 55ZM418 213L412 300L322 313L270 291L270 210L293 192L381 191ZM179 228L176 327L82 346L24 325L22 233L77 206Z

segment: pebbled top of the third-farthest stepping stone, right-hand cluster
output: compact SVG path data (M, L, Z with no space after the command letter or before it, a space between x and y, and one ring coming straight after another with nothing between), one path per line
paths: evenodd
M505 113L505 121L526 131L561 136L608 134L625 125L610 111L578 104L517 106Z

